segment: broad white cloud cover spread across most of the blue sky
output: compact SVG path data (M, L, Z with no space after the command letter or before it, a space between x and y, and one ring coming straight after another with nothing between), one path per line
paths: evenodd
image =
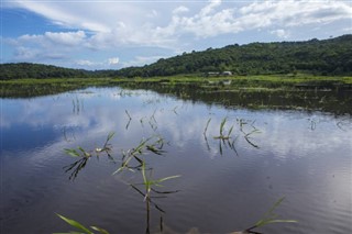
M352 20L352 5L338 0L323 3L316 0L241 3L221 0L182 3L13 0L7 2L6 7L35 12L69 31L4 38L7 45L15 47L14 56L23 59L38 56L52 56L53 59L55 57L58 59L74 52L107 53L111 49L146 46L168 48L173 52L185 51L186 46L198 49L196 43L199 41L205 42L220 36L228 40L232 35L253 31L289 40L295 32L301 31L302 26L316 27ZM351 29L351 24L345 27ZM340 32L348 30L343 31L342 27ZM108 59L105 63L142 64L144 60L154 62L150 58L157 57L155 54L133 55L129 57L135 59L127 62L120 54L118 55L121 60ZM144 59L146 57L148 59ZM85 59L72 60L77 65L94 66Z

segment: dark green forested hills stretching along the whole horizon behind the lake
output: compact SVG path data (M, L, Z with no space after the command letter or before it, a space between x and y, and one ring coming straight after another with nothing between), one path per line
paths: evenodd
M306 73L321 76L352 75L352 35L306 42L251 43L184 53L143 67L120 70L69 69L40 64L1 64L0 80L26 78L157 77L175 75L221 76ZM227 73L226 75L229 75Z

